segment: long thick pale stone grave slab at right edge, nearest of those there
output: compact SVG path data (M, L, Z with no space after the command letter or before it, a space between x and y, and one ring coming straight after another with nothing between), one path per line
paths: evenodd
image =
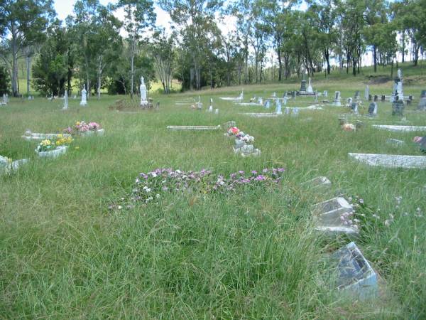
M349 157L369 166L383 166L385 168L426 168L426 156L405 156L399 154L354 154Z

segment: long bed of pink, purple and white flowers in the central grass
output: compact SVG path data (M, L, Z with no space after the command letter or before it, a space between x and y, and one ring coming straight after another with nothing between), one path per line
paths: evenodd
M225 177L215 176L212 171L181 171L173 169L155 169L147 174L141 173L136 178L136 186L131 192L130 203L151 203L157 201L164 193L230 193L237 192L244 187L277 185L285 169L263 169L245 173L238 171ZM125 201L121 198L121 201ZM133 204L129 205L130 207ZM129 207L127 206L127 207ZM110 206L109 208L124 208L124 206ZM130 208L129 207L129 208Z

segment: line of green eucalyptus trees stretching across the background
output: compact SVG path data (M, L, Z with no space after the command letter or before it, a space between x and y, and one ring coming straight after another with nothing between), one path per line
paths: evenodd
M77 0L60 21L52 0L0 0L0 93L17 96L18 61L25 60L26 92L65 90L100 96L137 92L141 75L171 92L282 81L302 73L357 75L366 52L373 67L410 55L417 65L426 46L426 0ZM170 30L156 23L168 12ZM120 20L114 14L124 12ZM233 19L224 33L219 28ZM125 36L122 36L125 35ZM276 65L276 68L271 68Z

